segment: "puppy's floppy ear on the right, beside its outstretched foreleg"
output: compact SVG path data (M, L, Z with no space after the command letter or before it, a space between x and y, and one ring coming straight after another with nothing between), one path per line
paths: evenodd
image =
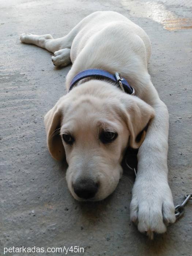
M144 141L150 120L155 116L154 109L136 96L126 103L127 125L130 132L129 146L139 148Z

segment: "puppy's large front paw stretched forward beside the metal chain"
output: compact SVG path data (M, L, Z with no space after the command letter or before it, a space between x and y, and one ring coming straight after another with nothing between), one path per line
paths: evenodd
M167 183L143 182L138 180L133 187L130 217L140 232L153 239L154 232L164 233L166 225L176 220L173 197Z

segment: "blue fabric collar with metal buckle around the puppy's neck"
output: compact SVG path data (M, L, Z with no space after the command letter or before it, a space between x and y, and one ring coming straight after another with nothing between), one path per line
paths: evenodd
M128 94L135 94L135 90L131 87L127 80L121 78L119 73L115 73L114 75L109 73L108 71L102 69L86 69L82 72L79 72L74 78L72 79L69 87L69 91L74 87L74 85L82 80L83 78L94 77L95 79L107 79L112 82L118 83L121 89Z

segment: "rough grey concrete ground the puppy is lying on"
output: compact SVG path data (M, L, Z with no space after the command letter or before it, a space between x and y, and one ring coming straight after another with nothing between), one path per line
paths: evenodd
M121 12L147 32L153 47L149 71L170 113L169 183L178 204L192 192L190 2L0 1L0 255L3 247L12 246L80 246L84 253L68 255L85 256L192 255L191 202L166 234L149 241L129 221L133 177L128 170L106 200L79 203L72 198L66 164L49 155L43 123L44 114L66 93L70 66L57 69L51 53L19 41L25 32L61 37L98 10Z

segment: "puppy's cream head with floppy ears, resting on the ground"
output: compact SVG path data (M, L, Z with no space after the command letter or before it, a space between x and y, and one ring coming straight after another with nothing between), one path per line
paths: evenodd
M49 152L57 160L66 157L68 188L77 200L101 200L114 191L125 149L140 147L154 116L147 103L113 87L86 82L45 116Z

